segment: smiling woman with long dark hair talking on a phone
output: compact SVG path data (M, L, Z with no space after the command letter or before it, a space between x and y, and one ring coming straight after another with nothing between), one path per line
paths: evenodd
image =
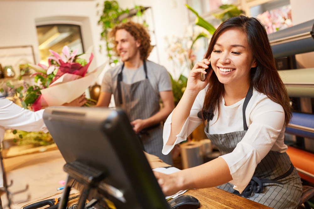
M290 101L263 24L246 16L226 20L204 58L165 122L163 153L204 122L222 155L174 174L155 172L163 192L217 186L272 208L296 208L302 184L284 144Z

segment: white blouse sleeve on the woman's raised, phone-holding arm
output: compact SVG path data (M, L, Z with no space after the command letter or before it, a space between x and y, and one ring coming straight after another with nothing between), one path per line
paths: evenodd
M173 145L166 144L170 136L171 123L172 123L171 118L172 118L173 111L168 116L167 120L164 123L164 131L163 131L164 146L162 149L163 154L169 154L176 144L179 144L180 142L187 140L187 137L192 133L192 131L195 128L197 128L199 124L203 122L201 118L198 118L198 112L202 110L204 97L205 97L205 90L203 89L202 91L198 93L198 96L196 97L193 103L192 109L190 111L190 115L185 121L180 133L177 135L176 141Z

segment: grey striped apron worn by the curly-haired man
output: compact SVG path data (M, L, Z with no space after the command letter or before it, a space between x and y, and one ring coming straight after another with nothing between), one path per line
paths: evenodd
M122 81L121 72L117 79L117 90L114 93L116 107L122 107L130 121L146 119L160 110L159 95L154 91L147 77L146 62L143 60L145 80L133 84L126 84ZM172 165L171 154L161 153L163 147L163 127L161 123L144 128L139 134L142 148L145 152L158 156L165 163Z

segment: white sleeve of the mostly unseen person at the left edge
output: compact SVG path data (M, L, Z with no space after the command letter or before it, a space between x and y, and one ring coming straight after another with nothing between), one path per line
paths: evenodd
M26 110L7 98L0 98L0 142L5 129L48 132L42 118L43 111Z

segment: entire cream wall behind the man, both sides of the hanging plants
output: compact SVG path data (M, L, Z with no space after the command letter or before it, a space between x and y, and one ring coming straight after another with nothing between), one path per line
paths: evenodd
M94 69L106 60L105 42L100 37L101 26L98 25L97 15L101 12L103 2L101 0L0 0L0 47L33 45L35 60L38 62L36 25L52 22L79 24L82 29L84 50L94 46L95 57L91 64L91 69ZM153 19L151 26L154 26L157 47L154 48L149 59L171 68L171 61L165 53L164 37L184 33L188 24L185 1L118 0L118 2L122 8L131 9L135 5L151 7L150 16ZM98 7L96 7L97 3L100 4Z

